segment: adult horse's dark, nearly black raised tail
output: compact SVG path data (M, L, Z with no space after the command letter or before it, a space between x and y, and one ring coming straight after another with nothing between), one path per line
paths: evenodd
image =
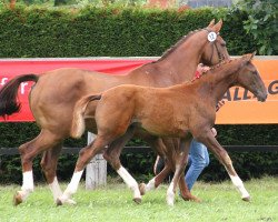
M21 108L21 103L18 100L18 89L20 83L26 81L37 82L38 79L39 77L36 74L23 74L9 81L0 90L0 117L6 119L7 115L19 112Z

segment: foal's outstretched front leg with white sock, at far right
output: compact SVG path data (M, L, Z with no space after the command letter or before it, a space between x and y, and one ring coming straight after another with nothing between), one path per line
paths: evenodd
M241 199L244 201L249 201L250 195L247 192L242 180L238 176L236 170L234 169L231 159L227 151L218 143L215 135L212 134L210 129L207 129L197 137L197 140L202 142L214 154L216 158L222 163L226 168L226 171L228 172L234 185L238 189L238 191L241 193Z

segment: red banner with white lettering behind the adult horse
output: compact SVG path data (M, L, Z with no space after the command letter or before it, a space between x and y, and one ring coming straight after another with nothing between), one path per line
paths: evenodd
M59 68L80 68L107 74L123 74L153 59L27 59L27 60L0 60L0 88L19 74L40 74ZM7 118L9 122L33 121L29 108L28 95L33 82L23 82L19 88L21 110ZM3 121L0 118L0 122Z

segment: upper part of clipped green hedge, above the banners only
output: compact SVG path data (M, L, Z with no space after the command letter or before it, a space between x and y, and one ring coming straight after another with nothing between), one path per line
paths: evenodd
M176 10L140 8L0 9L0 58L151 57L161 56L182 36L224 18L221 36L230 54L252 52L245 33L247 14L227 9Z

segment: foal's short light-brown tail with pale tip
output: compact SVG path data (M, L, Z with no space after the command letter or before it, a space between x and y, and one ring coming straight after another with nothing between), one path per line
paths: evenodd
M86 108L92 100L100 100L101 94L92 94L81 98L77 101L76 107L73 109L73 118L71 123L71 137L80 138L85 132L85 112Z

